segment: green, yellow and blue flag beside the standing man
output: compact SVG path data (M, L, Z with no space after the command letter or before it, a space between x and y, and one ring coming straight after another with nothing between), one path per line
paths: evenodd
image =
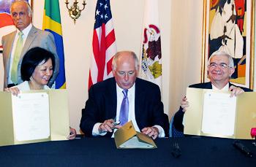
M42 29L49 31L54 36L56 50L59 56L59 74L55 81L56 89L66 88L64 47L61 28L61 14L59 0L45 0L44 18Z

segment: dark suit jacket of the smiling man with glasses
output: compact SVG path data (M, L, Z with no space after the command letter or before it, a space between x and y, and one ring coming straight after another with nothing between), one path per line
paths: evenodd
M231 84L229 82L229 87L232 85L233 84ZM236 86L236 85L233 85L233 86ZM236 86L236 87L238 87L238 86ZM211 86L211 82L206 82L206 83L190 85L189 88L212 89L212 86ZM239 88L241 88L245 92L252 92L252 90L250 90L248 88L243 88L243 87L239 87ZM184 131L184 125L182 125L183 116L184 116L184 112L182 112L182 108L180 106L180 108L178 109L178 112L176 112L176 114L174 115L173 125L176 128L176 130L182 131L182 132Z

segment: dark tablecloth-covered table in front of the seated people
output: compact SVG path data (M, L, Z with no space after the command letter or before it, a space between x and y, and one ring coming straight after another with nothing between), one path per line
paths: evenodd
M246 157L233 139L182 137L157 139L157 149L116 149L114 139L83 138L0 147L0 166L256 166L252 140L241 140L254 154ZM177 142L181 156L171 154Z

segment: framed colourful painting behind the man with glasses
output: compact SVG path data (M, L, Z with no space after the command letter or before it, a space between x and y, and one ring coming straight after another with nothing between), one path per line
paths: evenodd
M235 72L230 81L253 88L254 0L203 1L203 52L201 82L208 80L208 58L223 50L233 58Z

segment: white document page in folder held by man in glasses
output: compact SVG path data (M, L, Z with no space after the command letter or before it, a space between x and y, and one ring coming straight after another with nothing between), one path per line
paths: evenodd
M233 136L236 120L236 97L228 93L207 92L203 100L203 133Z

